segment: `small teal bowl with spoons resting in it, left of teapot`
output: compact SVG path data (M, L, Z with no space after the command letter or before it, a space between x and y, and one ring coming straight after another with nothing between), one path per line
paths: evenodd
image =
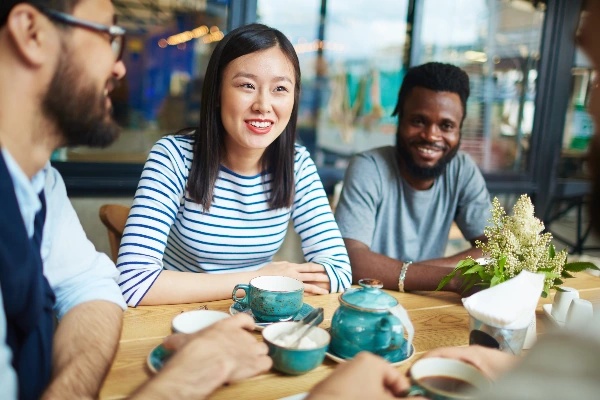
M331 340L329 333L322 328L314 327L306 335L308 341L303 341L300 347L292 349L278 339L283 332L298 326L298 322L280 322L266 327L262 331L263 339L269 346L269 357L273 360L273 368L288 375L302 375L317 368L323 362L327 347Z

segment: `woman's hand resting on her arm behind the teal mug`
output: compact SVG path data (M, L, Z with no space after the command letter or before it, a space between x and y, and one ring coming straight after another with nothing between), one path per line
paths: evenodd
M325 267L315 263L294 264L287 261L272 262L260 270L263 275L279 275L304 282L304 293L329 294L330 282Z

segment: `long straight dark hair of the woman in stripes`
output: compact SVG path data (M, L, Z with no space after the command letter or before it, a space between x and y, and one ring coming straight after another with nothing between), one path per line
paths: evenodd
M188 178L189 196L208 211L213 202L215 183L225 154L227 134L221 121L220 97L223 71L233 60L246 54L281 49L294 66L296 86L292 115L283 133L265 150L262 170L271 173L271 209L286 208L294 198L294 144L300 96L300 63L294 46L280 31L262 24L250 24L229 32L210 57L200 105L200 126L194 133L194 159Z

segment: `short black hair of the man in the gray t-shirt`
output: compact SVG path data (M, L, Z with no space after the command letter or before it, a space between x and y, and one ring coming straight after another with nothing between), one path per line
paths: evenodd
M469 88L469 76L465 71L455 65L438 62L430 62L410 68L402 81L402 86L398 93L398 103L392 114L398 115L400 120L402 120L404 112L404 102L415 87L423 87L435 92L458 94L463 106L463 118L460 121L462 126L467 116L467 99L471 92Z

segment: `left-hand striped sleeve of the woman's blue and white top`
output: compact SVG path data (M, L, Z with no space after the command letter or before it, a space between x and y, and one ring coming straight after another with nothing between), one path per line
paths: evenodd
M187 181L178 140L160 139L148 156L127 218L117 269L119 286L130 306L137 306L163 269L167 237Z

